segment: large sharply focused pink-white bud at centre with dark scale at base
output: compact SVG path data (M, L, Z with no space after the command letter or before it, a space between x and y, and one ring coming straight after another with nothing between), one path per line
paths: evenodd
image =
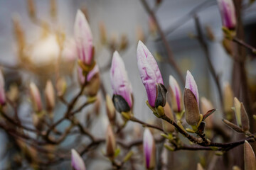
M156 60L142 41L139 41L137 47L137 63L142 83L146 89L149 105L152 108L164 107L167 90L164 87Z

